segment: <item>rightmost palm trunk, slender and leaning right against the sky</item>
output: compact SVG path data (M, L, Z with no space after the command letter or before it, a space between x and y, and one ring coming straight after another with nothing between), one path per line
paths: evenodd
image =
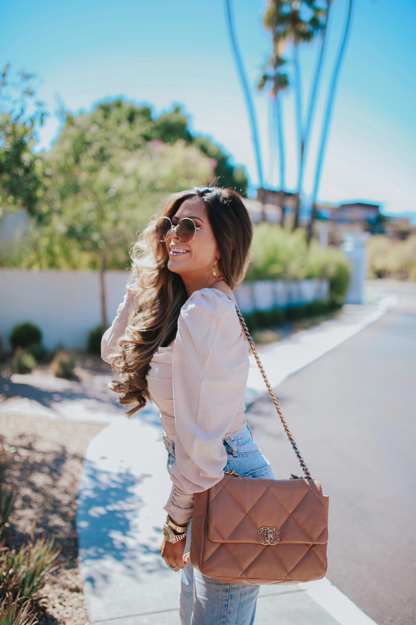
M337 82L339 79L341 63L342 63L342 59L344 58L345 47L347 44L347 39L348 39L350 26L351 26L353 2L354 0L349 0L347 19L345 20L345 26L344 26L344 33L342 35L342 41L341 41L341 45L339 48L337 61L335 62L334 71L332 73L332 78L331 78L331 83L330 83L330 88L329 88L329 95L327 99L327 105L325 108L324 123L322 126L322 133L320 136L318 159L317 159L317 166L316 166L316 171L315 171L314 192L312 196L312 214L310 216L309 226L308 226L308 234L307 234L308 244L310 242L310 239L312 238L312 228L314 226L314 220L316 217L316 201L317 201L317 194L318 194L319 183L320 183L320 175L322 173L322 164L324 162L325 148L327 145L327 138L328 138L330 122L332 118L332 111L334 109L335 91L337 88Z

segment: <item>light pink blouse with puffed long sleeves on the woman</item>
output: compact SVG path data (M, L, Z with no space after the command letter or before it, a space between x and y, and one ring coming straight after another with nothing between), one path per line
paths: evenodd
M126 327L131 301L127 295L102 337L104 360ZM217 289L192 293L182 306L174 344L159 347L146 376L162 427L175 443L165 510L178 523L191 519L194 493L224 476L222 441L245 425L248 371L247 342L234 303Z

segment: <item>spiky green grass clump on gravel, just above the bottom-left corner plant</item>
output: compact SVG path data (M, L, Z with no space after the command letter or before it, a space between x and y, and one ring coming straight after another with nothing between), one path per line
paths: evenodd
M47 577L56 569L59 549L52 538L23 545L18 552L7 549L0 555L0 599L34 600Z

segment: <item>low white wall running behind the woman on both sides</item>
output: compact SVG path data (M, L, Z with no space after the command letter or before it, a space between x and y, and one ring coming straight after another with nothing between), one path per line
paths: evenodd
M107 320L116 316L128 271L107 271ZM328 297L326 280L258 281L235 291L243 312L285 308ZM13 326L31 321L42 331L47 349L58 343L84 349L88 331L101 322L99 274L95 271L22 271L0 269L0 332L4 346Z

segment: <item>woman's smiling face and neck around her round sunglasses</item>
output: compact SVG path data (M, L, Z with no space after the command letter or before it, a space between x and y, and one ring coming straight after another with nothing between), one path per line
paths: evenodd
M176 215L172 217L174 226L184 217L191 217L196 225L195 236L189 243L181 243L176 231L171 231L166 241L169 261L167 268L179 274L184 282L207 278L212 281L212 268L220 253L208 221L204 201L190 197L182 202Z

